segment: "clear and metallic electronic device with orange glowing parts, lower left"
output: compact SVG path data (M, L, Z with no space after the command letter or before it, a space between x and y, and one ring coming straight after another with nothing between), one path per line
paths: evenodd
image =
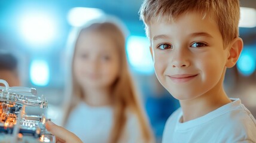
M41 116L25 113L26 106L47 108L48 102L36 96L35 88L9 87L0 79L0 142L55 142L45 129L48 120Z

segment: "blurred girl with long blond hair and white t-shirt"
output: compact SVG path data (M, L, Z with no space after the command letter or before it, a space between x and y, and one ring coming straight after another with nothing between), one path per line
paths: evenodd
M133 87L122 30L108 19L78 30L64 125L83 142L154 142Z

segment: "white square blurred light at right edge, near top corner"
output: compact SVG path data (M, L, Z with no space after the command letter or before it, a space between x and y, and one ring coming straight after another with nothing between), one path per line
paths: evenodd
M254 8L240 7L239 27L255 27L256 10Z

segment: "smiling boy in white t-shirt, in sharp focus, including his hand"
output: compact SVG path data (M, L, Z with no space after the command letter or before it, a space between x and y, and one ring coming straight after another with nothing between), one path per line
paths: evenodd
M225 70L243 47L239 1L145 0L141 18L157 78L181 104L167 120L163 142L256 142L254 117L223 89ZM47 129L79 141L51 122Z

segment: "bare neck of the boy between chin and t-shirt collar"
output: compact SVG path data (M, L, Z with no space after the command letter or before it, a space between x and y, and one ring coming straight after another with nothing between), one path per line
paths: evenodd
M231 102L224 89L212 90L192 100L179 100L183 111L182 122L196 119Z

